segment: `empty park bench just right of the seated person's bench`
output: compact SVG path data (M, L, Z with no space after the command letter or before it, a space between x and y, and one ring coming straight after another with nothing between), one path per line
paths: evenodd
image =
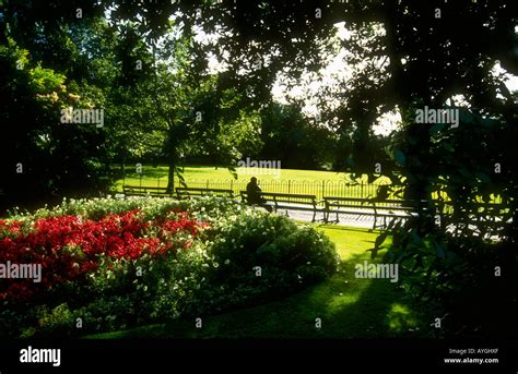
M342 197L342 196L323 196L325 205L325 222L330 222L330 214L335 214L337 218L333 222L339 221L339 214L351 214L358 216L373 216L373 229L378 227L378 220L382 219L382 225L387 227L387 219L407 219L416 216L419 207L415 201L405 200L375 200L362 197Z

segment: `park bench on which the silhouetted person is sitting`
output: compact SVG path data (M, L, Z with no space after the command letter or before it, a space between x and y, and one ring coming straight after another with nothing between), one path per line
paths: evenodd
M240 191L242 202L248 204L248 193ZM313 220L315 222L317 212L322 212L323 208L319 207L319 201L316 195L303 195L293 193L276 193L276 192L261 192L262 198L264 198L264 205L271 206L274 212L279 209L287 210L307 210L313 212Z

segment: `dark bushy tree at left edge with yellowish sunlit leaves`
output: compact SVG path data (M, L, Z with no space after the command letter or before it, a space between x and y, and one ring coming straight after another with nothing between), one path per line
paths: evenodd
M37 53L34 53L37 55ZM21 48L11 37L0 46L1 95L5 97L1 123L3 207L34 203L46 196L97 192L104 143L95 125L62 123L61 110L87 108L95 100L75 95L73 81ZM82 144L81 147L70 147Z

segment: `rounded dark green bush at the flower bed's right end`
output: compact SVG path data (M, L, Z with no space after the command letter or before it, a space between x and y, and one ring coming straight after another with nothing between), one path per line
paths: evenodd
M334 244L326 236L310 227L298 228L284 216L262 213L231 218L208 254L205 285L210 287L203 300L220 300L217 310L293 293L322 280L339 264Z

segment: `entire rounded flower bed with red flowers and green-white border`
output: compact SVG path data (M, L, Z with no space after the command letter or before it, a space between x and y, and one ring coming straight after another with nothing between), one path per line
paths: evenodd
M84 335L268 302L334 272L328 238L222 198L69 201L0 220L0 335Z

